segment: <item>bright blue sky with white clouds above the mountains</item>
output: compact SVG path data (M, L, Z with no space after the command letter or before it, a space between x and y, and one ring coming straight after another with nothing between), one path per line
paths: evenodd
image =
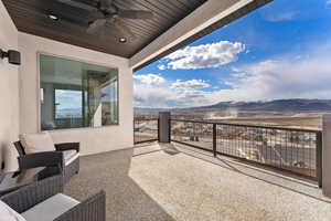
M136 72L135 106L331 98L331 0L275 0Z

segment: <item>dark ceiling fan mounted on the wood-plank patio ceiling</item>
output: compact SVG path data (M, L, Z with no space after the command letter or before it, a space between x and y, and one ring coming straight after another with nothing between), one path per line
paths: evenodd
M88 22L87 33L102 38L115 36L125 43L127 40L137 39L135 33L122 21L122 19L152 19L153 13L145 10L127 10L116 6L114 0L97 0L94 6L76 0L57 0L74 8L86 10L90 13L93 21Z

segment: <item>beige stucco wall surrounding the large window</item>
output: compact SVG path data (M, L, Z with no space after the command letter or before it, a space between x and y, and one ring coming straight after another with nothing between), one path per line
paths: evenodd
M79 141L83 155L129 148L134 145L132 72L128 60L49 39L19 33L20 133L36 133L40 125L38 53L70 57L119 69L119 125L52 131L55 143Z

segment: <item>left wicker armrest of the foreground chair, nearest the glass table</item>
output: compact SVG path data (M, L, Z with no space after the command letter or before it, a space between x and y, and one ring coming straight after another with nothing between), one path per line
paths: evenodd
M63 177L54 176L4 194L0 200L22 213L60 192L63 192Z

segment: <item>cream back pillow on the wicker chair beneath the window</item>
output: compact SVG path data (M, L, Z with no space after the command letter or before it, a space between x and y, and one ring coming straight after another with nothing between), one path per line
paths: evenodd
M23 134L20 135L20 140L26 154L55 150L53 139L47 131Z

